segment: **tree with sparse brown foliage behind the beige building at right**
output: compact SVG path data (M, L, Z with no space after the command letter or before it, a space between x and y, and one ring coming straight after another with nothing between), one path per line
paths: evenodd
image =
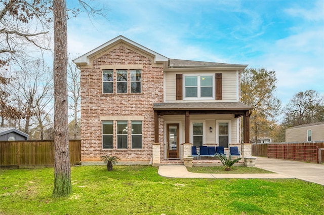
M285 107L287 127L320 121L324 121L324 96L314 90L295 94Z

